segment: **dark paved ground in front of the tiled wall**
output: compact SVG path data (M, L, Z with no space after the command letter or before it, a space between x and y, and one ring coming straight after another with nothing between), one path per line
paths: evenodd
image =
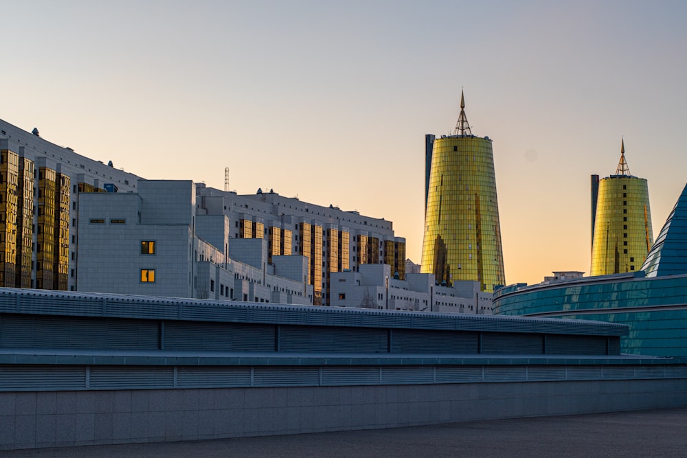
M687 457L687 408L168 444L14 450L3 457Z

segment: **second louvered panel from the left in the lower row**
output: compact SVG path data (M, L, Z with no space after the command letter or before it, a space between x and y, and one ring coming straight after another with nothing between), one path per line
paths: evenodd
M173 388L172 367L91 367L91 389Z

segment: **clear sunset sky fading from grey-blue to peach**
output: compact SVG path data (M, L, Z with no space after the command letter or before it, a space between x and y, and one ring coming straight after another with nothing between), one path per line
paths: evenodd
M589 175L687 180L684 1L0 3L0 117L148 179L394 222L420 262L424 135L464 87L493 139L506 282L589 272Z

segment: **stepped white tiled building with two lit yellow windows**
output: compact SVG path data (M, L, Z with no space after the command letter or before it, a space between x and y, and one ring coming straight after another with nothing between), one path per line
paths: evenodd
M195 191L192 181L142 180L137 194L83 194L78 290L312 304L312 286L299 280L302 256L283 269L290 277L275 275L260 261L266 240L230 238L223 216L196 227Z

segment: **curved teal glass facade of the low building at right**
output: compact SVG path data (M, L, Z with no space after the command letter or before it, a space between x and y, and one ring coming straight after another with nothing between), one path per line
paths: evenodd
M621 352L687 357L687 275L642 271L526 288L503 288L494 313L609 321L629 326Z

